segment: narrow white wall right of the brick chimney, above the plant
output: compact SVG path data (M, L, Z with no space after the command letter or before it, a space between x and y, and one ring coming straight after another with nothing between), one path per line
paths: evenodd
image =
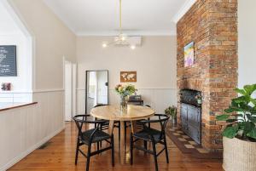
M256 1L238 0L238 86L256 83Z

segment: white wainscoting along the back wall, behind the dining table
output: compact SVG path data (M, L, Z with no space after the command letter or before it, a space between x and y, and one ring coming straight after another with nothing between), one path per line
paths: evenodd
M114 89L108 90L109 104L119 104L119 96ZM177 105L176 88L138 88L137 94L143 96L144 104L150 105L157 113L164 113L169 105ZM84 114L85 91L83 88L77 89L77 112Z

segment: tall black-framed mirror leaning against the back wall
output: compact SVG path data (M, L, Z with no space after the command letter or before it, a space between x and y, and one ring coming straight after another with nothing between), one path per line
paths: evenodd
M85 73L85 111L95 105L108 105L108 70L86 71Z

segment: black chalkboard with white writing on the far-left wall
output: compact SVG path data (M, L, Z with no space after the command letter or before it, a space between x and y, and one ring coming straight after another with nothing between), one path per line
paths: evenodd
M16 46L0 45L0 77L17 76Z

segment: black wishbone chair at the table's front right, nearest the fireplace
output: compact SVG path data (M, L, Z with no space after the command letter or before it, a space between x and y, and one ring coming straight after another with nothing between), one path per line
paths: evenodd
M165 131L166 123L169 117L165 114L155 114L154 116L158 117L158 119L141 120L140 122L144 125L143 130L140 130L134 134L131 133L131 165L133 164L133 149L136 148L137 150L145 151L154 156L155 170L158 171L157 157L160 155L161 152L166 151L166 162L169 163ZM148 128L146 126L147 123L160 123L160 130ZM136 145L135 142L137 140L143 140L144 146ZM153 151L148 150L147 142L152 143ZM164 145L164 148L157 153L156 145L158 144Z

